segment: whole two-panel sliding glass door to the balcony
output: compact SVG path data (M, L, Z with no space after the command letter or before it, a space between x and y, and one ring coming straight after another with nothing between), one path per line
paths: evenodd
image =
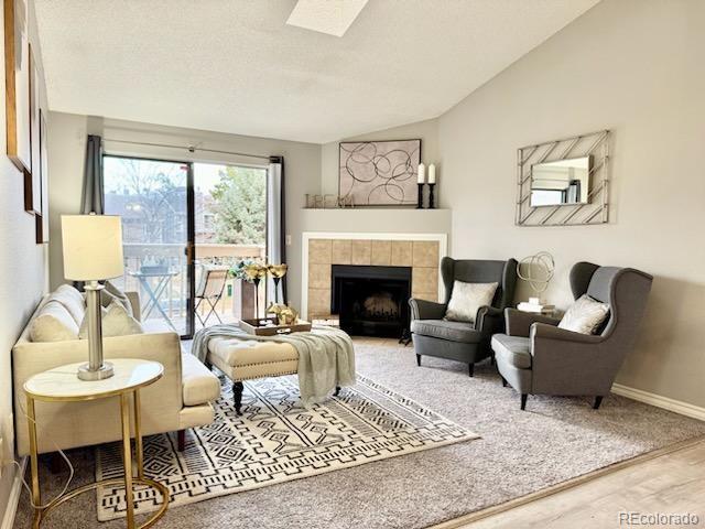
M122 217L124 273L142 322L182 337L254 317L264 289L234 278L267 259L267 169L106 154L105 213Z

